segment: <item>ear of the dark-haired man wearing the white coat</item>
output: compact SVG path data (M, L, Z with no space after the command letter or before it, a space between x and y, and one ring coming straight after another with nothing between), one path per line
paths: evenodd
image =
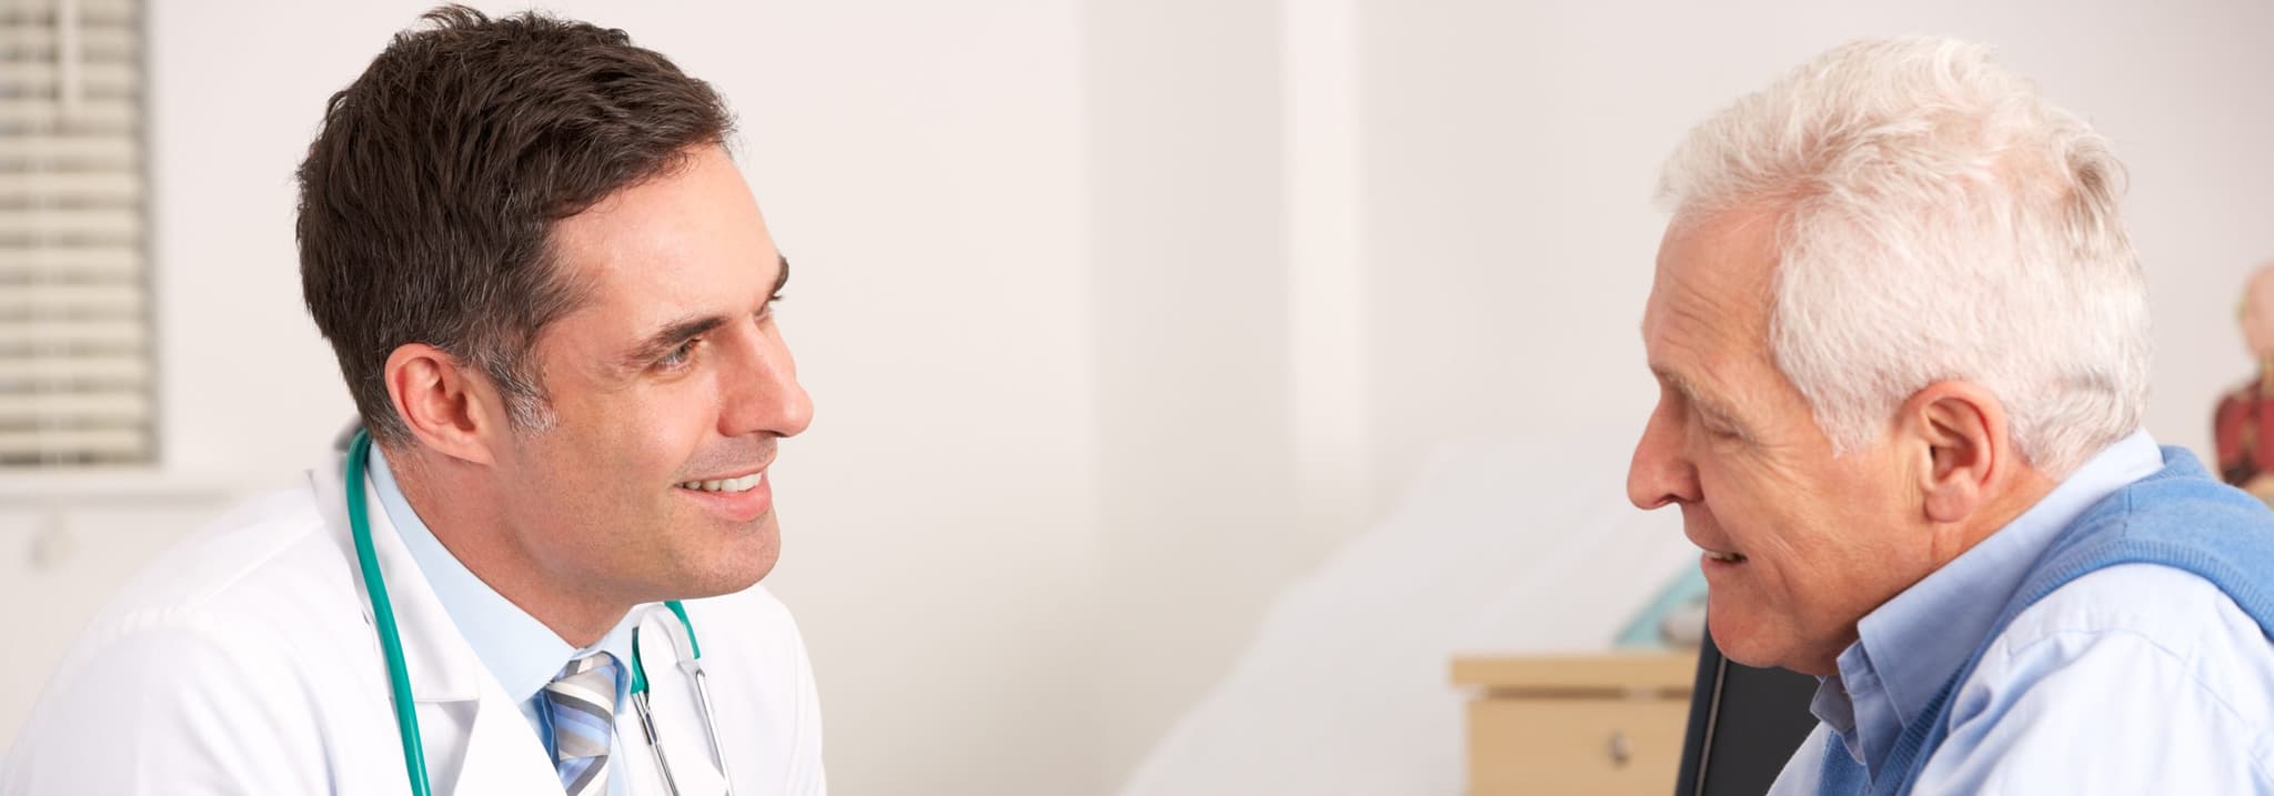
M493 437L505 434L505 403L471 364L428 343L387 355L387 396L421 446L453 459L491 464Z

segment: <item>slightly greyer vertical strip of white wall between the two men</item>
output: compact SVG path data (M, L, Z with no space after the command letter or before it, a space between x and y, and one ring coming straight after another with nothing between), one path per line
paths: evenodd
M1087 20L1107 778L1292 575L1276 11L1096 2Z

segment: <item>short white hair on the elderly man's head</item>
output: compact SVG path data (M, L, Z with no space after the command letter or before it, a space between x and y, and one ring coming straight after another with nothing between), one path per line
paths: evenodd
M1951 39L1856 41L1737 100L1667 159L1690 223L1778 212L1769 353L1835 453L1940 380L2006 407L2063 478L2140 428L2147 280L2124 166L2085 121Z

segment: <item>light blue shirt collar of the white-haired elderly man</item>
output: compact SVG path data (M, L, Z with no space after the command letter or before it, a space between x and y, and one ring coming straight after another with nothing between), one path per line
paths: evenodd
M2163 450L2156 439L2144 430L2133 432L2076 469L2012 523L1865 614L1856 623L1856 644L1840 653L1840 678L1817 691L1817 716L1840 716L1851 728L1840 730L1835 723L1840 739L1876 773L1903 728L1974 655L2053 537L2101 498L2160 469Z

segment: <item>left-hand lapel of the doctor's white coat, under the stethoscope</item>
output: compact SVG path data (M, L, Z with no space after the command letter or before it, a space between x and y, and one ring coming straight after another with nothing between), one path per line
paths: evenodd
M377 628L371 614L371 594L362 582L355 559L355 539L348 528L348 503L343 457L334 455L330 469L316 469L312 482L323 507L325 523L341 544L357 589L364 594L364 623L373 625L371 648L380 653ZM425 741L428 778L437 794L541 794L559 787L559 773L546 760L543 744L530 730L521 707L505 696L505 687L482 669L482 660L457 632L448 610L434 598L418 573L418 562L402 546L402 534L380 505L377 489L364 489L364 516L371 523L371 546L380 559L380 575L387 580L387 596L396 612L396 628L402 637L402 662L412 680L412 700L418 703L418 735ZM384 657L377 660L384 671ZM389 696L391 703L391 696Z

